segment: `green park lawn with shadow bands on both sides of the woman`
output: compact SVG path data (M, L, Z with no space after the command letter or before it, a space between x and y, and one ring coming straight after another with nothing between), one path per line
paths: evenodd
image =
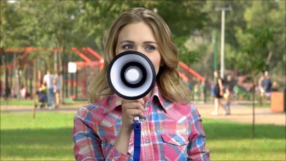
M1 113L1 160L73 161L73 117L71 113ZM286 158L286 127L204 119L207 148L212 161Z

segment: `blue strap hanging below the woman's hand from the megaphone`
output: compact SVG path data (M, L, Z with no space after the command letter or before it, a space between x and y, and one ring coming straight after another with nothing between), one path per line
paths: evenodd
M134 161L140 161L141 123L133 123L134 129Z

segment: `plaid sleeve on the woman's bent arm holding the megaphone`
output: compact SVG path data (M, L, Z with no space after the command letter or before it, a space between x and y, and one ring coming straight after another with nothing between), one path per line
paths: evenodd
M107 145L103 149L94 129L92 114L86 107L81 107L74 117L73 129L74 155L77 161L129 161L130 154L122 154L113 145Z

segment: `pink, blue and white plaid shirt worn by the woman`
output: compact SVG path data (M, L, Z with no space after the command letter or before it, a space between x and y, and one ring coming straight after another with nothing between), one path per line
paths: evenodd
M141 119L141 161L209 161L202 119L194 104L166 101L155 84ZM134 134L128 154L113 146L120 131L121 98L113 94L81 107L74 117L77 161L133 161Z

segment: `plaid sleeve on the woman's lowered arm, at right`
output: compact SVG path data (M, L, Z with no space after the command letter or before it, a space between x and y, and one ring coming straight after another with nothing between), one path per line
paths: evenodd
M210 161L201 115L194 105L192 107L194 108L191 110L192 119L190 120L191 135L189 136L188 161Z

